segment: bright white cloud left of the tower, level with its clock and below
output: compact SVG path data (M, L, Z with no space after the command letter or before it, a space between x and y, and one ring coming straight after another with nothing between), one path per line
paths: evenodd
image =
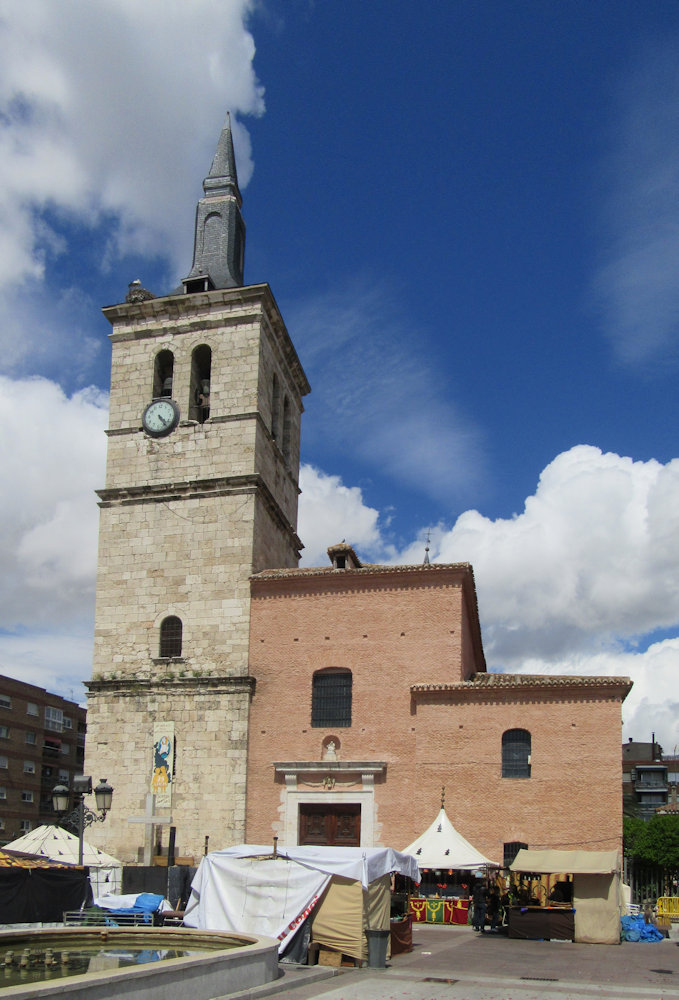
M0 377L0 629L91 629L108 400Z

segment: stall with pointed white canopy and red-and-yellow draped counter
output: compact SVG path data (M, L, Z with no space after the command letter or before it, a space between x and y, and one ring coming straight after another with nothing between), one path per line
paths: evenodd
M473 873L497 865L455 829L443 796L434 822L404 853L413 855L422 874L419 895L408 902L413 922L466 924Z

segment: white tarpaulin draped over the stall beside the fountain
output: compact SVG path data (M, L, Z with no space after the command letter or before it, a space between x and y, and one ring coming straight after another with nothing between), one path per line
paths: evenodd
M241 845L204 857L191 885L184 923L203 930L241 931L288 944L334 875L371 882L396 871L419 881L414 858L390 848Z

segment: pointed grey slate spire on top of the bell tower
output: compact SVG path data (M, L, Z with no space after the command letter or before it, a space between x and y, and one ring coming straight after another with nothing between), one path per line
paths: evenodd
M245 223L240 211L243 199L228 112L210 173L203 181L203 192L196 209L193 267L183 281L188 293L243 284Z

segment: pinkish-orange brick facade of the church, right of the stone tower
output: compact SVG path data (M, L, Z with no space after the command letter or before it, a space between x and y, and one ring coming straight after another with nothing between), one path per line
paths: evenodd
M311 725L314 672L348 667L348 728ZM361 804L361 842L403 848L442 786L460 833L503 846L620 846L624 678L492 675L467 565L262 573L252 580L246 836L289 843L304 803ZM531 733L530 777L502 734ZM324 760L329 740L337 761ZM315 762L315 763L314 763Z

